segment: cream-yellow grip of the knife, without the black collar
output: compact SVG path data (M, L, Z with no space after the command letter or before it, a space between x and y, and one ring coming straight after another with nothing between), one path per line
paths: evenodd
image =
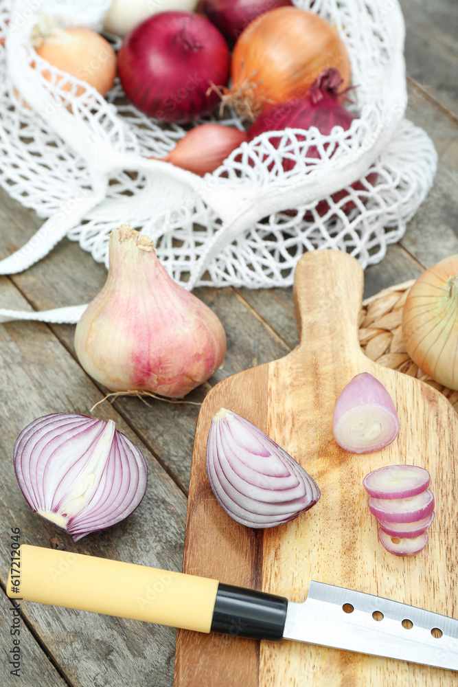
M14 560L20 567L12 565L6 587L13 600L210 631L216 580L27 544Z

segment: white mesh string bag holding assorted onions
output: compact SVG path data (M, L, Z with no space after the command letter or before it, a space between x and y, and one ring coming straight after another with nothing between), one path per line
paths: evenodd
M43 12L62 25L97 28L109 1L0 0L0 183L45 218L0 261L0 273L27 269L64 236L107 264L108 234L121 223L150 236L165 269L187 289L289 286L301 254L314 249L347 251L363 267L382 260L431 188L437 164L426 133L404 118L400 7L396 0L295 3L321 14L345 41L358 118L328 136L316 128L276 132L278 146L264 133L198 177L150 159L168 153L183 127L142 115L126 104L119 83L102 98L30 44ZM232 111L224 123L246 125ZM306 157L310 146L319 159ZM282 159L292 156L296 164L285 172ZM334 202L343 188L348 195ZM323 199L325 214L317 210ZM76 322L83 308L0 316Z

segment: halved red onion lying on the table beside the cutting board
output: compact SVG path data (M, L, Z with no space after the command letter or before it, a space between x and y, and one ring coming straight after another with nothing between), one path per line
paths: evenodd
M73 541L124 520L148 482L141 451L113 420L72 413L27 425L14 444L13 460L27 504Z

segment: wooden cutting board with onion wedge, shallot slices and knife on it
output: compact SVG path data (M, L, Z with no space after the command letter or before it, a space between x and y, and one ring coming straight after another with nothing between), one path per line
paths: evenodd
M299 346L221 381L202 405L183 571L293 601L305 600L313 579L458 618L457 414L431 386L382 368L360 350L363 270L354 258L330 250L305 254L294 295ZM358 372L371 372L385 384L401 427L391 446L366 455L343 451L332 434L336 398ZM266 530L226 515L205 471L209 425L220 407L260 427L304 466L321 489L314 508ZM362 485L369 471L404 462L430 471L436 499L429 543L409 558L378 543ZM175 687L452 687L456 681L451 671L300 642L179 631L176 645Z

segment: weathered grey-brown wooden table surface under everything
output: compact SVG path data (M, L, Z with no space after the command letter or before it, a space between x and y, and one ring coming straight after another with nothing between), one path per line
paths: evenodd
M389 2L389 0L387 0ZM397 245L365 272L365 295L416 278L458 252L458 3L402 0L407 23L407 116L422 126L439 156L433 189ZM1 161L0 161L1 170ZM12 253L41 225L0 191L0 257ZM106 278L76 243L63 240L25 273L0 278L5 308L45 310L89 302ZM330 288L332 284L330 284ZM220 317L228 340L225 366L190 395L202 401L209 385L253 365L277 359L298 343L291 289L197 289ZM74 326L14 322L0 325L0 685L13 684L8 664L10 601L5 581L10 528L21 541L181 570L187 485L198 405L136 398L102 403L95 416L112 418L143 451L149 484L133 515L78 543L34 515L14 476L12 448L34 418L54 412L89 414L104 390L82 370L73 350ZM103 585L102 580L94 580ZM171 687L174 629L93 613L21 605L21 687ZM206 687L206 686L203 686Z

